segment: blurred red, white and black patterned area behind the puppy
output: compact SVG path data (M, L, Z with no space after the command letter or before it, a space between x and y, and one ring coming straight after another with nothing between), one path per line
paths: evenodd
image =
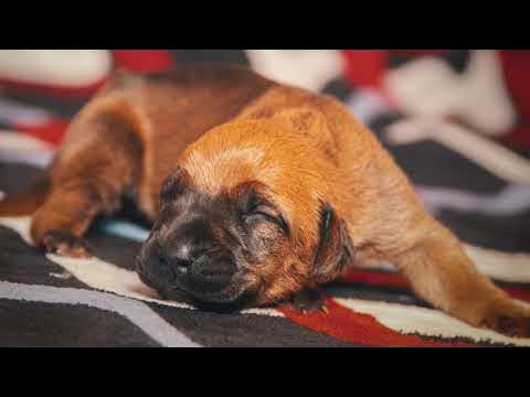
M530 51L0 51L0 190L50 161L113 69L208 61L339 98L464 242L530 253Z

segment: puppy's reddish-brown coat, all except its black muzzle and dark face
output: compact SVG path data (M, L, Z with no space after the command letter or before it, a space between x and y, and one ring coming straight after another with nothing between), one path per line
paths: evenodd
M394 262L434 307L473 325L530 336L530 311L478 273L340 103L245 68L119 73L72 122L47 171L47 194L25 195L20 208L8 198L0 214L36 210L32 236L39 244L50 232L81 237L126 193L155 219L162 183L179 165L204 194L236 195L252 182L282 208L289 238L275 243L274 255L248 276L262 280L258 304L338 277L348 240L350 266ZM324 247L322 204L332 208ZM275 232L263 233L273 238Z

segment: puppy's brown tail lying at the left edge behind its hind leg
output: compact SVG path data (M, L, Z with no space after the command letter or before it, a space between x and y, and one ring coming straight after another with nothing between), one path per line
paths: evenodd
M33 214L46 200L50 189L50 179L43 175L24 193L0 198L0 217Z

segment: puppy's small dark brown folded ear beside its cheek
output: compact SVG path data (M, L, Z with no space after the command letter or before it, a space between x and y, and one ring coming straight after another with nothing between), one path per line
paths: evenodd
M352 260L353 244L346 223L329 204L320 210L319 243L312 267L317 283L327 282L339 276Z

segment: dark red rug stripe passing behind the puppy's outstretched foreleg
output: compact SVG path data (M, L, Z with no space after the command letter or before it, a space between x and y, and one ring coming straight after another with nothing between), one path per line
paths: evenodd
M399 273L352 270L342 277L342 280L351 283L362 283L372 287L388 287L410 290L409 282ZM502 287L510 297L530 302L530 290L524 287Z

